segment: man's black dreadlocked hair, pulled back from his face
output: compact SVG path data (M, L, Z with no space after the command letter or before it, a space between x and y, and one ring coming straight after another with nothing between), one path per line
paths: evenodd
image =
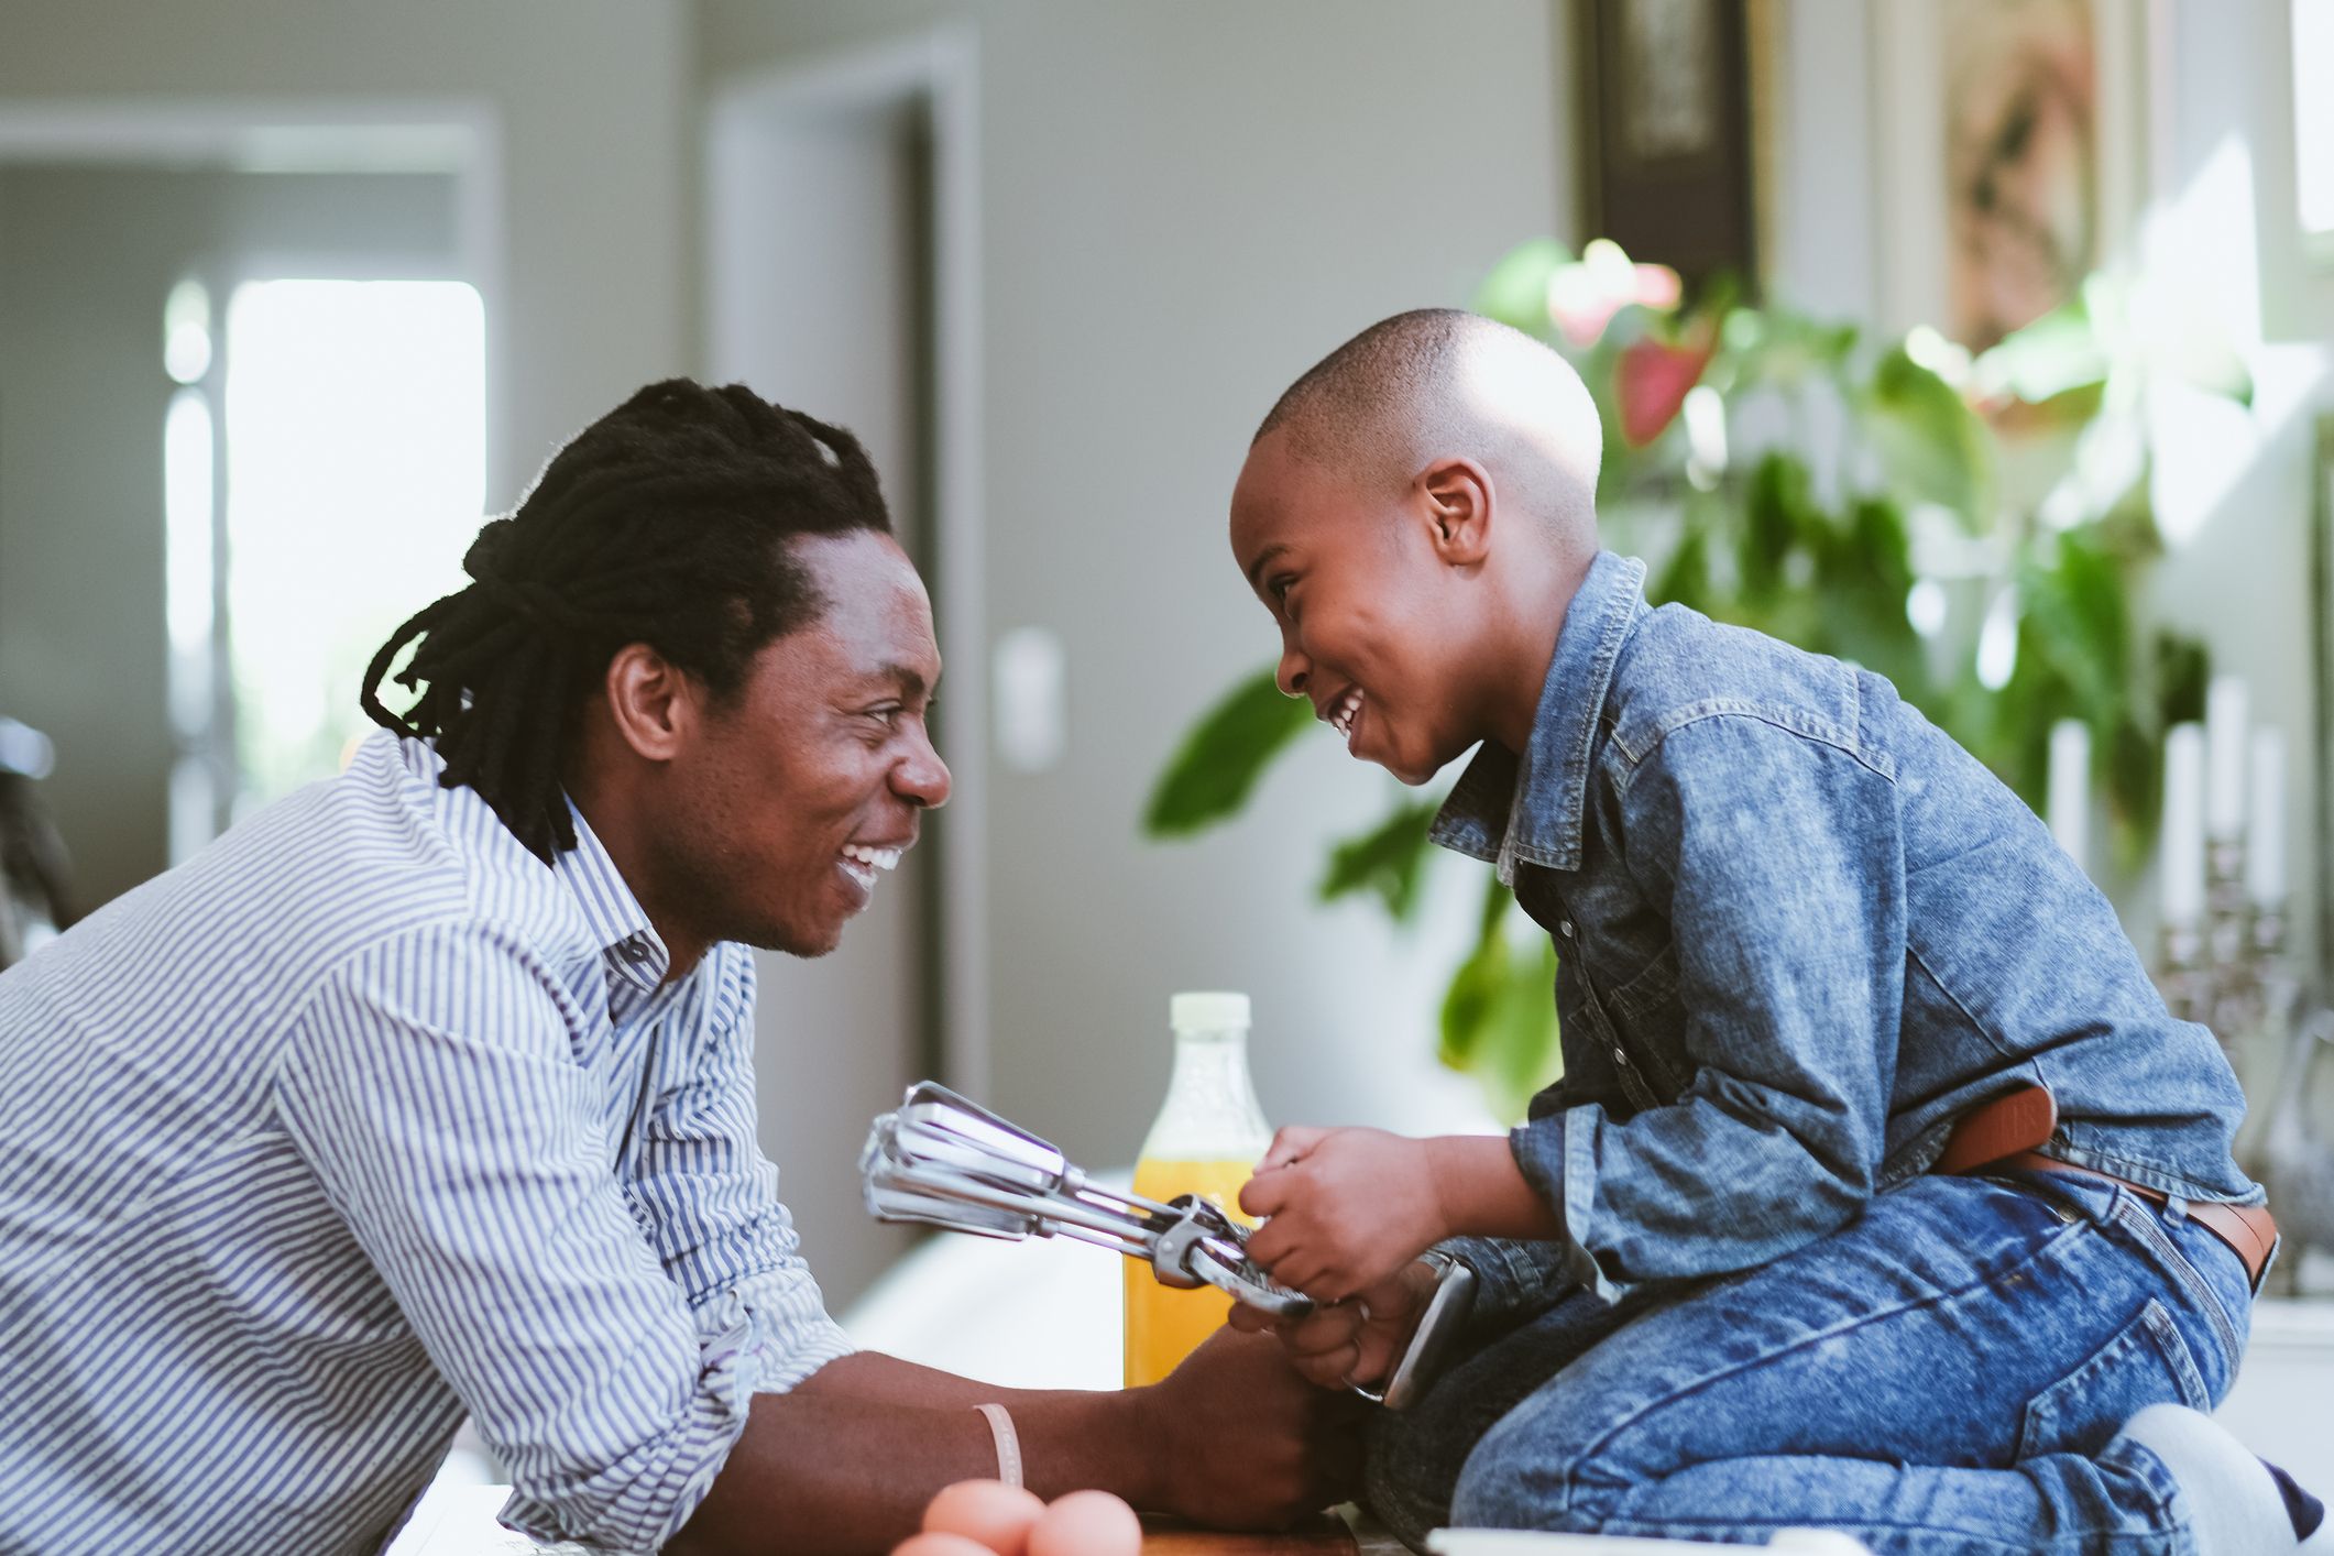
M576 847L560 768L579 716L626 644L649 644L728 698L752 658L826 602L791 553L803 534L892 530L859 439L745 385L668 378L567 443L506 518L462 555L471 576L380 644L366 716L436 744L551 863ZM380 702L390 665L420 698Z

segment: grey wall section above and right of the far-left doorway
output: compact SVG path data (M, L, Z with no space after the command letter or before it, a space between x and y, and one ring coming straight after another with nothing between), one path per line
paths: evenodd
M117 98L467 98L502 131L504 413L488 502L642 383L686 366L686 0L0 0L0 107Z

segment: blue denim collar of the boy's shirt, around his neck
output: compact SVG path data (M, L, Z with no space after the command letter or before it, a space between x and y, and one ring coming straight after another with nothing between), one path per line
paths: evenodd
M1547 660L1540 707L1522 758L1484 742L1435 812L1428 837L1489 861L1515 884L1517 861L1550 870L1580 868L1580 819L1587 805L1596 714L1613 686L1613 663L1645 611L1645 565L1599 551L1564 609L1557 653ZM1503 816L1503 819L1501 819Z

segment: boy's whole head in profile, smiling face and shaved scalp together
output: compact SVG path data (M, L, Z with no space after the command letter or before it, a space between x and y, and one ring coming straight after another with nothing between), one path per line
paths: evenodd
M1426 308L1340 345L1232 485L1281 691L1405 784L1482 740L1522 751L1596 560L1601 453L1587 387L1505 324Z

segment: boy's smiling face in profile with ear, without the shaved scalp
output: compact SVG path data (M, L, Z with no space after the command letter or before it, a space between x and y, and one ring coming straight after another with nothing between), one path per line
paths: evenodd
M1232 558L1281 630L1279 684L1347 749L1424 784L1482 740L1484 628L1468 579L1484 560L1489 478L1468 460L1405 488L1370 485L1267 432L1232 490Z

